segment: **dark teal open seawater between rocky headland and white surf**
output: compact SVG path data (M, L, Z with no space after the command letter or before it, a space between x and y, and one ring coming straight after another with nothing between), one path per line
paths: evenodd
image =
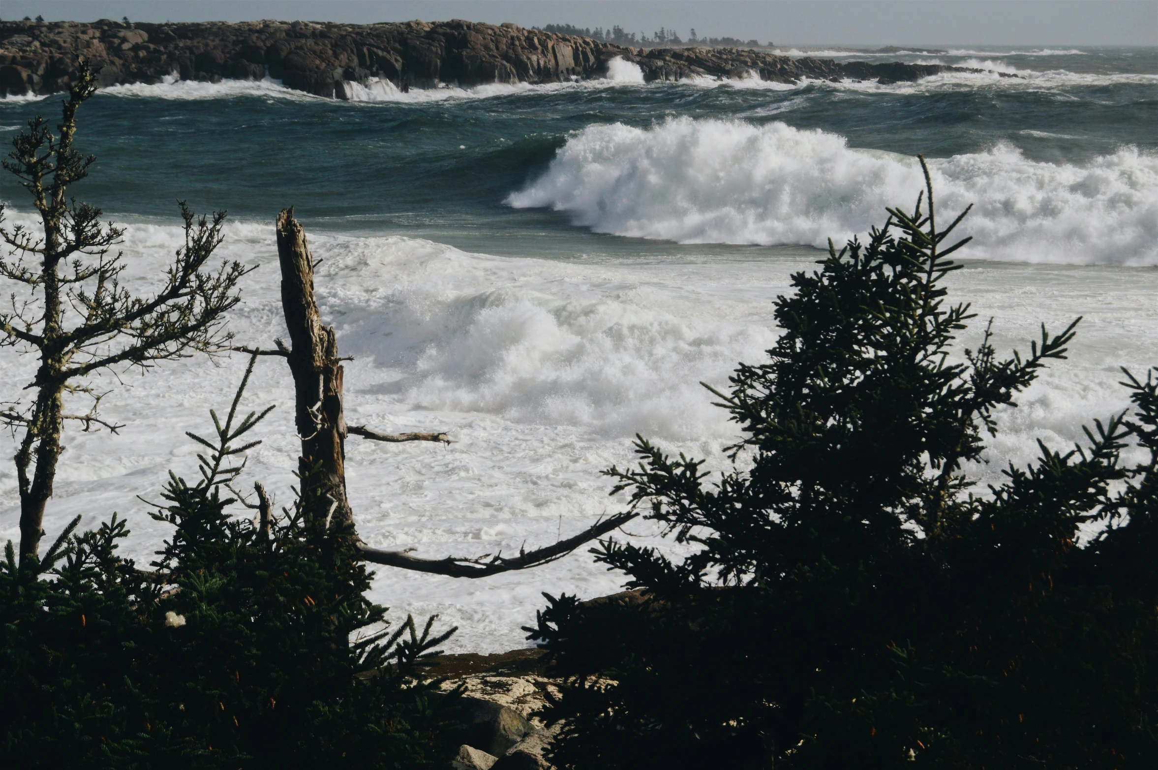
M415 235L503 255L635 256L654 247L599 237L591 230L616 228L601 227L581 206L554 213L550 205L560 207L560 201L548 200L545 210L515 210L507 198L541 176L556 152L586 129L620 123L648 130L675 117L783 124L834 134L850 148L931 159L998 148L1013 149L1025 161L1086 168L1123 147L1143 154L1158 149L1158 49L970 50L878 60L895 58L1019 78L948 75L885 87L805 82L770 88L750 81L593 81L406 95L382 89L366 94L379 101L361 102L313 98L274 85L124 87L98 94L85 108L80 142L98 163L83 193L119 217L171 219L178 198L198 210L226 208L236 219L258 221L295 205L308 225L332 230ZM0 125L10 135L32 112L54 110L51 97L8 100L0 102ZM746 161L758 162L755 156L728 160L734 166L718 171L733 177L742 174ZM695 163L696 157L667 161ZM1003 163L990 166L999 174ZM843 169L830 159L818 174L822 170L838 177ZM0 181L0 197L20 206L14 182ZM760 184L754 181L745 192L760 195ZM798 197L808 193L799 183L794 190ZM657 200L645 201L654 205L639 217L654 217L659 199L681 192L640 190ZM699 203L712 208L730 201ZM789 204L782 213L796 212ZM589 227L573 227L577 220ZM674 234L675 240L792 242L790 234Z

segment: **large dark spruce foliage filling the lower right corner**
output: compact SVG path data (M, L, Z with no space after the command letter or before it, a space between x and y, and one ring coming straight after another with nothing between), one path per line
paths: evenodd
M1026 358L987 331L954 359L965 214L938 229L928 195L778 298L770 360L713 390L743 432L731 470L709 483L640 438L638 469L608 471L699 550L608 541L596 560L643 601L548 597L532 638L571 677L548 710L571 719L560 767L1158 762L1158 386L1127 375L1133 418L979 489L963 463L1073 324ZM1129 443L1149 460L1123 465Z

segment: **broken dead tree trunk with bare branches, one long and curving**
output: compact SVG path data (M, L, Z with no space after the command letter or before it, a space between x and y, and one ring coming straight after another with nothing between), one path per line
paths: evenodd
M283 355L294 379L294 421L301 438L301 492L305 499L325 506L328 521L353 525L353 511L346 497L345 440L349 433L374 441L440 441L449 443L446 433L379 433L365 426L346 427L343 413L343 367L338 357L337 336L332 327L322 324L314 299L314 258L306 242L306 230L286 208L277 217L278 259L281 264L281 307L290 329L292 349L278 340L278 350L236 347L251 354ZM367 562L418 572L432 572L455 578L486 575L525 570L563 558L579 545L601 537L635 519L625 511L601 520L584 531L519 556L498 553L482 558L447 557L424 559L405 551L384 551L367 545L354 531L354 543ZM490 557L490 558L488 558Z

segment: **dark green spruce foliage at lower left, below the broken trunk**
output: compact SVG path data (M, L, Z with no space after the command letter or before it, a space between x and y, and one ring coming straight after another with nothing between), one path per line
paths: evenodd
M252 364L250 364L252 367ZM248 379L248 372L247 372ZM242 388L244 382L242 383ZM415 662L431 637L384 610L349 526L299 500L267 528L236 518L232 464L262 416L237 398L200 481L171 476L156 573L116 556L124 521L0 565L0 767L435 768L447 699ZM163 591L162 591L163 588ZM433 618L432 618L433 621ZM416 682L415 679L418 681Z

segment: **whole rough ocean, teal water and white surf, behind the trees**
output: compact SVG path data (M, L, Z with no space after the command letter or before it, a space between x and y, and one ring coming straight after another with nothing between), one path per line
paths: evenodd
M863 59L842 51L815 52ZM871 57L870 57L871 58ZM600 471L632 462L639 433L723 467L735 426L698 383L726 387L777 330L790 276L911 206L915 155L930 162L941 215L973 204L973 242L950 298L994 318L999 350L1026 350L1045 323L1083 316L1001 433L984 484L1061 448L1128 405L1121 368L1158 364L1158 49L976 49L900 59L1018 75L945 74L916 83L757 80L645 85L626 63L603 80L402 94L372 83L339 102L274 81L118 86L82 108L94 153L78 198L127 227L127 283L145 292L182 243L178 199L229 211L219 255L259 265L229 321L239 343L283 336L273 217L295 206L316 257L327 323L345 354L352 424L446 431L448 447L351 437L347 482L362 536L418 556L514 552L623 507ZM57 97L0 101L0 134ZM31 222L10 175L0 199ZM0 286L8 292L7 286ZM35 361L0 349L0 401ZM226 408L245 357L197 357L95 384L118 435L69 425L50 538L130 520L124 552L147 563L167 536L141 498L171 469L196 475L208 410ZM292 382L259 361L245 404L278 408L249 453L279 505L292 500ZM0 452L10 456L9 437ZM10 462L0 463L0 541L19 538ZM679 553L637 522L617 536ZM482 580L380 567L373 599L439 614L449 651L525 646L541 592L593 597L621 578L584 549Z

